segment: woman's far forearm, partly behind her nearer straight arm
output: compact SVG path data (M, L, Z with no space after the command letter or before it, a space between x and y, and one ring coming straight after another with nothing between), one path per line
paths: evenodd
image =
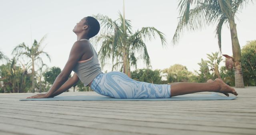
M76 73L68 79L57 91L55 91L50 97L55 97L60 95L64 91L68 90L70 87L74 86L79 81L79 78Z

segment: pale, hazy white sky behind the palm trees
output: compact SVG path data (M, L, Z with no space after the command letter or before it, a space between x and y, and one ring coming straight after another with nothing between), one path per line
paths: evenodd
M188 32L178 44L172 44L172 37L178 24L178 0L125 0L125 18L131 20L133 30L152 26L164 33L167 45L163 47L160 39L146 41L152 69L164 69L174 64L182 64L189 71L198 70L201 58L206 54L218 52L215 38L216 24L201 31ZM109 16L113 20L122 12L123 0L0 0L0 51L12 58L12 50L24 42L32 44L47 34L43 44L44 51L51 62L43 57L48 67L63 69L70 49L76 42L72 32L82 18L96 14ZM237 14L236 24L241 48L247 41L256 40L256 4L249 3ZM95 46L98 51L100 46ZM222 54L232 56L230 30L227 25L222 29ZM224 57L223 57L224 58ZM26 60L25 60L26 61ZM2 62L3 63L3 62ZM24 63L21 61L21 63ZM224 65L224 61L220 64ZM102 69L111 71L109 62ZM137 68L145 68L142 61ZM132 67L132 70L135 68Z

